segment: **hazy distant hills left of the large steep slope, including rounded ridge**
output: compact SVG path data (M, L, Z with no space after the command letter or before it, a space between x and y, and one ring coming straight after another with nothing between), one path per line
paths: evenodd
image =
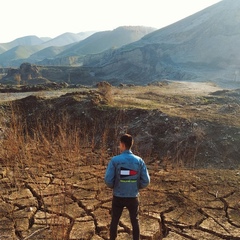
M54 39L25 36L0 44L0 66L17 67L23 62L41 65L78 64L78 59L87 54L121 47L154 30L151 27L123 26L112 31L64 33Z

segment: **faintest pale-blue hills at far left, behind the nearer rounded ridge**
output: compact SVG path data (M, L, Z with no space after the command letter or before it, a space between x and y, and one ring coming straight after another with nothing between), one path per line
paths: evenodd
M0 65L3 67L18 67L26 61L36 63L45 58L53 58L67 47L70 47L72 43L79 42L93 33L94 32L81 32L77 34L64 33L53 39L25 36L9 43L1 43ZM44 51L44 49L46 50ZM38 53L38 51L40 52Z

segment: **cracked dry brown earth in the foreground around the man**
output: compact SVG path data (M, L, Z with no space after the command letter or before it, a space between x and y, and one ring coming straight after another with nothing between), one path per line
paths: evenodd
M108 239L106 163L50 157L31 166L0 163L1 240ZM151 184L140 195L141 239L240 239L238 171L148 167ZM131 239L125 210L117 239Z

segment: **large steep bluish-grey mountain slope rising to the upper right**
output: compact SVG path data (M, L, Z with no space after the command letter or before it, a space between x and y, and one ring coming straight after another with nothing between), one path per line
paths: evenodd
M223 0L120 49L86 56L119 81L240 80L240 1Z

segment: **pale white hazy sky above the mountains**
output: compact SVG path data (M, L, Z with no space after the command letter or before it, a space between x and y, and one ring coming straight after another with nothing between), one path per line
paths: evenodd
M220 0L1 0L0 43L36 35L162 28Z

